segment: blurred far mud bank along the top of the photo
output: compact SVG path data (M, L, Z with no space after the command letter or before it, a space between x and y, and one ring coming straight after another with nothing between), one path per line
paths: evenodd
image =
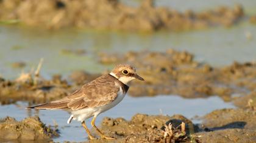
M178 12L167 7L155 7L144 0L138 7L129 7L118 0L3 0L0 1L0 21L20 22L47 28L82 27L107 30L172 31L230 26L241 21L243 7L217 7L195 13Z

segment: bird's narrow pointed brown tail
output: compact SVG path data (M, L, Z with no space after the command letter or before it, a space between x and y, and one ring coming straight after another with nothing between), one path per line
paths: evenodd
M65 102L63 102L63 103L46 103L46 104L31 106L31 107L27 107L27 108L35 108L35 109L40 109L40 110L68 109L68 104Z

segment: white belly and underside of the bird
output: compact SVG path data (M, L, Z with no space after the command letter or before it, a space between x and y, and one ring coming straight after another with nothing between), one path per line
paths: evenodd
M85 121L85 119L88 119L94 115L99 115L100 113L107 111L108 109L114 107L119 102L121 102L124 98L123 91L120 91L118 93L118 97L115 99L115 101L111 102L110 104L101 106L101 107L93 107L93 108L84 108L77 111L71 111L71 116L73 116L73 119L76 121ZM69 122L68 122L69 123Z

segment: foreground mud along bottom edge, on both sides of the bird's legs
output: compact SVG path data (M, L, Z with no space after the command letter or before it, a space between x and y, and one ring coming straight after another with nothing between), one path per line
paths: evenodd
M251 109L215 110L195 125L182 115L137 114L130 121L104 118L101 130L116 139L94 139L87 142L255 142L256 111ZM16 121L0 121L0 141L49 142L58 136L56 130L45 127L38 117ZM95 134L96 135L96 134ZM68 141L69 142L69 141Z

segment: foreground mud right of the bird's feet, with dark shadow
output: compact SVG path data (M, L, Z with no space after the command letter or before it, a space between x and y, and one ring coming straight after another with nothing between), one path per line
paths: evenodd
M202 124L195 125L182 115L137 114L130 121L123 118L104 118L101 128L115 142L165 142L171 139L165 128L172 125L177 132L176 142L255 142L256 112L243 109L215 110L202 117ZM182 122L185 123L182 132ZM92 142L113 142L96 139Z

